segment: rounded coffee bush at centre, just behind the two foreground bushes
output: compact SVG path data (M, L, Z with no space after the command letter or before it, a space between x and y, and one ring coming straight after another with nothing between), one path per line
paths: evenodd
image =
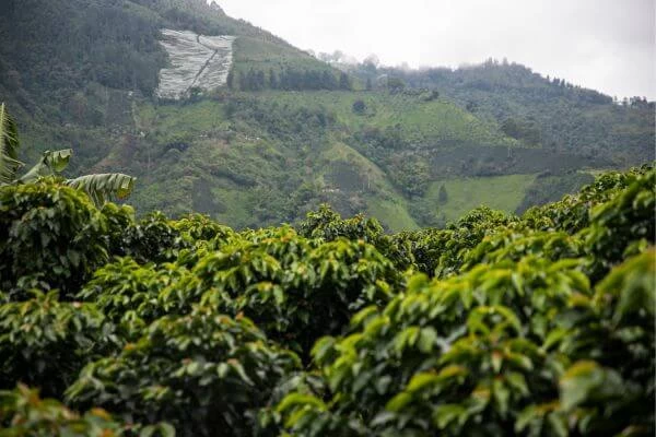
M232 241L201 258L191 276L179 285L184 298L243 312L304 353L319 336L339 333L358 309L385 304L401 281L394 264L363 240L323 243L289 228ZM175 287L166 298L173 293Z

